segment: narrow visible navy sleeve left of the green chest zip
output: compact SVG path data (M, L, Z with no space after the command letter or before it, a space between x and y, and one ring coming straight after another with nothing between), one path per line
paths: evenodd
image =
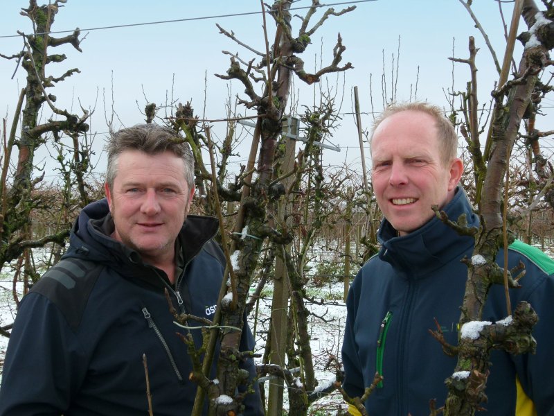
M361 397L364 394L364 375L361 374L358 348L355 340L354 324L358 308L356 293L357 281L361 279L361 271L350 286L346 299L346 328L342 345L342 363L344 368L343 389L350 397Z

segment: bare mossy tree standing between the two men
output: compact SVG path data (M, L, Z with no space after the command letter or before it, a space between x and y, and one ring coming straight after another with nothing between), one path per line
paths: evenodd
M236 395L236 388L240 383L244 383L244 376L238 371L240 360L251 354L251 352L239 352L240 330L244 319L245 305L249 287L258 266L258 258L262 250L265 239L269 239L276 245L286 245L292 241L292 235L283 224L271 222L268 218L268 212L274 201L278 200L283 194L284 187L280 185L281 177L277 177L274 171L276 158L280 157L278 148L278 139L283 130L283 116L289 98L289 86L293 74L307 84L313 84L319 81L321 76L326 73L345 71L352 67L350 63L340 66L342 53L346 49L339 35L337 44L333 49L333 59L328 67L323 67L316 73L305 71L304 62L299 58L310 44L310 37L330 16L343 15L354 7L346 8L339 12L329 8L325 10L323 16L312 24L311 19L319 8L319 2L313 1L311 8L307 11L305 17L301 18L301 27L298 36L292 34L291 14L289 12L291 1L276 1L273 6L262 4L267 15L270 15L276 23L276 35L274 44L270 47L265 42L264 52L256 51L251 46L247 46L235 37L234 33L224 30L221 26L220 32L230 37L236 43L243 46L248 51L254 53L259 59L258 64L254 64L256 58L246 62L238 54L231 55L231 66L226 75L217 75L224 80L238 80L244 86L246 99L241 99L240 103L247 109L255 109L258 118L256 129L253 135L253 144L249 163L244 168L244 174L240 177L242 184L242 193L240 195L240 207L235 221L235 227L231 237L231 250L233 261L228 259L229 265L229 288L222 288L220 308L215 315L215 324L219 324L223 329L220 331L220 357L218 361L217 383L208 378L208 372L211 367L211 351L215 344L217 329L211 333L210 345L206 349L207 359L202 366L202 372L195 372L193 380L204 387L208 392L210 399L211 413L216 415L227 415L229 412L238 413L240 410L241 395ZM265 19L265 14L264 14ZM309 28L310 24L312 27ZM267 27L267 26L265 26ZM265 33L267 33L265 31ZM261 93L256 92L256 85L262 85ZM191 118L179 117L181 120ZM194 122L193 122L194 123ZM182 127L182 126L181 126ZM190 123L186 126L190 128ZM195 145L199 148L199 142L194 141L193 135L186 135L189 143L193 144L193 153ZM208 139L208 145L209 139ZM259 144L259 147L258 147ZM213 150L212 146L208 146ZM256 154L258 154L258 165L255 166ZM195 153L195 157L199 153ZM281 155L282 156L282 155ZM199 156L201 157L201 156ZM198 159L197 159L198 160ZM203 177L208 177L206 173L201 173ZM214 177L215 176L215 177ZM217 189L219 194L224 189L217 183L217 175L212 175L213 191ZM224 232L226 234L226 232ZM279 251L279 250L278 250ZM202 395L197 397L195 412L199 414L202 409ZM218 399L221 397L230 397L231 400Z

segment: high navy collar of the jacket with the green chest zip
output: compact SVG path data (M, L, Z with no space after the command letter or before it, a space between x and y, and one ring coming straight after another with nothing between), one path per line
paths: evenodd
M474 214L465 191L458 185L454 198L444 207L449 220L456 222L465 215L467 227L479 227L479 217ZM460 252L474 244L471 236L460 236L452 227L434 216L421 228L397 236L396 229L384 219L377 232L382 244L379 258L391 263L401 274L418 277L449 263Z

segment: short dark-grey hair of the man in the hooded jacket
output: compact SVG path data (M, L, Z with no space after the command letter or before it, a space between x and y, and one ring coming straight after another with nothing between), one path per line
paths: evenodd
M110 132L106 151L108 163L106 183L109 189L114 186L119 155L125 150L140 150L147 155L171 152L183 159L185 180L188 189L195 186L195 159L188 144L175 130L157 124L137 124L117 132Z

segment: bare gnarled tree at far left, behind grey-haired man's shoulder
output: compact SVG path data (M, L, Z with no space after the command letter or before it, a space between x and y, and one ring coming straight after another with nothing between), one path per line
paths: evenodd
M26 35L18 32L24 41L24 49L21 52L11 56L0 54L2 58L16 60L17 68L21 67L26 71L26 86L21 90L9 137L6 137L4 120L0 180L0 268L19 258L14 284L17 279L23 278L26 282L25 290L29 279L34 281L41 274L37 268L42 265L35 264L31 249L54 243L54 247L57 247L55 251L59 254L66 237L69 236L72 215L78 207L89 202L89 193L92 191L91 185L87 183L87 173L92 168L91 143L87 139L82 141L82 136L89 130L87 119L91 114L84 109L81 116L60 110L55 105L56 97L46 91L79 72L74 68L61 76L47 76L46 69L49 64L66 60L64 54L49 53L51 48L69 44L81 51L78 29L66 37L58 38L49 34L55 15L63 3L64 0L56 0L48 5L37 6L35 0L30 0L29 7L22 9L21 15L30 19L33 33ZM41 114L45 107L52 115L47 121L41 122ZM21 135L18 137L17 125L20 118ZM68 138L69 144L64 144ZM47 143L53 144L54 148L58 146L59 149L53 156L62 173L61 196L53 191L52 185L44 184L44 166L35 164L37 149ZM69 151L64 150L68 148ZM12 169L10 162L16 155L17 162ZM50 232L46 232L46 235L35 238L32 218L48 218L53 227L50 227ZM52 221L51 218L56 220ZM53 259L51 257L49 261Z

